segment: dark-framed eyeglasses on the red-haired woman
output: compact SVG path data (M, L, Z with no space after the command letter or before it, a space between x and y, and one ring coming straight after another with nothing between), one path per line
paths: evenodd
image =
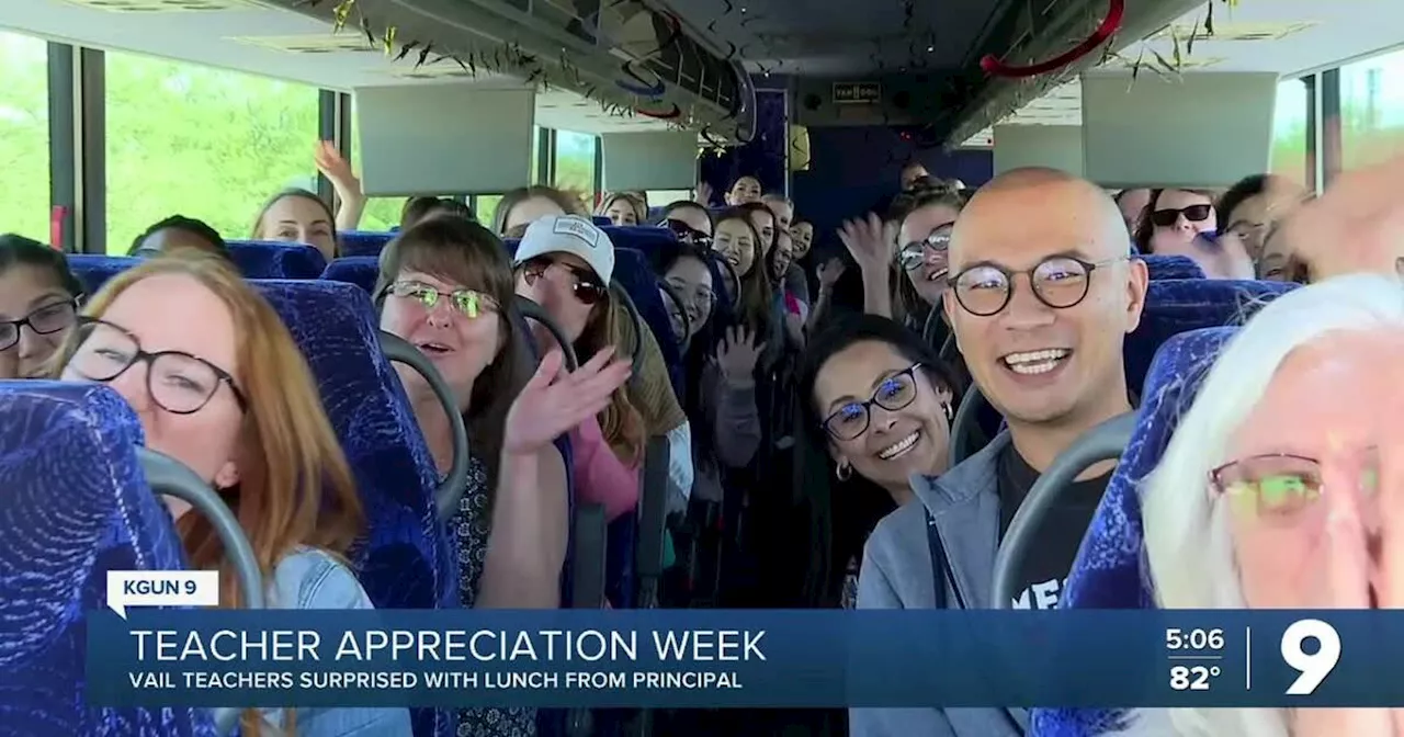
M83 317L77 324L77 350L66 371L90 382L108 383L135 364L146 364L146 392L157 406L171 414L194 414L209 404L227 385L240 411L249 410L244 393L227 371L184 351L143 351L125 328L102 320Z

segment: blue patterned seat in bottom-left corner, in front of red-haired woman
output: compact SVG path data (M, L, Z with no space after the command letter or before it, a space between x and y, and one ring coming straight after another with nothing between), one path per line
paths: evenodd
M100 385L0 382L0 416L6 731L218 734L205 709L98 708L84 695L86 616L107 606L107 571L185 567L170 515L142 476L131 407Z

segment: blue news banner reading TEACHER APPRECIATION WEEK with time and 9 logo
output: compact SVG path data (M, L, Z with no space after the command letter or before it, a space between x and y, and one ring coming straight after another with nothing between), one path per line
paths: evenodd
M1404 613L91 612L100 706L1404 706Z

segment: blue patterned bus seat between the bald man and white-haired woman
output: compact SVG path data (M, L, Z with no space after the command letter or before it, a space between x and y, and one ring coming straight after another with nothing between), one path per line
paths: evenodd
M1182 333L1165 341L1155 355L1146 376L1146 400L1136 418L1136 431L1087 528L1059 608L1155 608L1141 570L1139 489L1170 445L1179 417L1193 403L1214 358L1236 333L1237 327ZM1031 716L1031 734L1101 734L1113 729L1122 715L1116 709L1036 709Z

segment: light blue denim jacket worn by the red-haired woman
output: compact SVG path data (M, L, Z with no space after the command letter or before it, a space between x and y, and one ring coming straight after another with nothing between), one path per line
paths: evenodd
M355 574L323 550L300 547L272 571L268 606L278 609L373 609ZM298 709L298 737L406 737L409 709L309 708ZM282 709L264 709L264 719L281 727Z

